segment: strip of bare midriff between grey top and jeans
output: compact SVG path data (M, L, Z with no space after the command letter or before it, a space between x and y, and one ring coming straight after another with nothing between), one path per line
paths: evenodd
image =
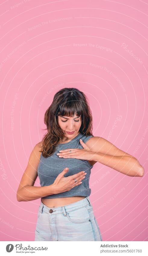
M41 198L41 201L43 204L45 204L47 207L59 207L59 206L65 206L67 204L72 204L77 201L82 200L83 198L86 198L85 196L73 196L73 197L63 197L63 198Z

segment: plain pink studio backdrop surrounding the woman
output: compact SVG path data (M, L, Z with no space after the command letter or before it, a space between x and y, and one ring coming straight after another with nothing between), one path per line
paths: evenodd
M18 202L16 191L45 132L43 117L53 96L75 87L89 99L93 135L133 155L145 169L140 178L100 163L93 167L90 199L102 239L147 241L147 4L0 4L0 240L34 241L40 199Z

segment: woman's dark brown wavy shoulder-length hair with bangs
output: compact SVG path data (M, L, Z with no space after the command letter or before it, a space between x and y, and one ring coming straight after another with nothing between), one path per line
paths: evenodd
M72 117L75 113L77 116L81 115L80 133L87 136L93 135L92 114L85 94L76 88L59 90L44 115L47 132L41 141L40 151L44 157L52 155L64 138L64 132L58 125L58 115Z

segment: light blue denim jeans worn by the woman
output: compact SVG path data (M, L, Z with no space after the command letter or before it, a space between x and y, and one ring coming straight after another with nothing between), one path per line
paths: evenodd
M41 201L34 241L102 241L89 197L52 208Z

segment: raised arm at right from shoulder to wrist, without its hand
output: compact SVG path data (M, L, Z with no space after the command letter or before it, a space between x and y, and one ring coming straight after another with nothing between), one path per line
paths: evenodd
M144 168L130 154L120 150L102 137L92 137L86 145L92 152L91 160L102 163L128 176L142 177Z

